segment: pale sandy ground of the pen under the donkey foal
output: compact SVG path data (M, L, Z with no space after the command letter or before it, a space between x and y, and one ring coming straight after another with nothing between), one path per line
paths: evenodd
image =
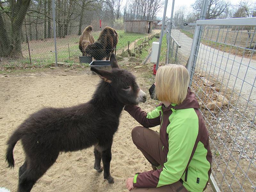
M62 76L65 73L66 76ZM135 73L135 75L138 73ZM140 87L148 92L149 84L142 77L137 79ZM12 131L31 113L43 107L68 107L88 101L99 77L91 75L88 69L47 69L35 73L12 73L0 75L0 187L17 190L18 169L23 164L24 154L20 142L14 148L14 169L6 168L4 154L6 140ZM148 99L141 108L149 111L155 101ZM60 154L56 163L38 180L32 191L128 191L125 180L136 172L151 167L131 139L132 127L139 125L127 112L123 112L119 129L114 136L110 172L115 183L108 184L103 172L93 169L93 148ZM158 128L154 128L157 130ZM210 190L209 190L210 191Z

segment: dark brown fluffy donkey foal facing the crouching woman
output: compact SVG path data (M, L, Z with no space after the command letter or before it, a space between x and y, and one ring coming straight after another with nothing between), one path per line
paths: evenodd
M14 167L13 148L21 140L26 154L19 170L18 192L29 192L36 181L54 164L60 152L77 151L94 145L94 169L110 175L111 146L126 104L146 101L131 72L120 69L111 54L111 72L91 68L102 81L92 99L70 108L44 108L32 114L8 140L6 161ZM101 159L103 169L101 167Z

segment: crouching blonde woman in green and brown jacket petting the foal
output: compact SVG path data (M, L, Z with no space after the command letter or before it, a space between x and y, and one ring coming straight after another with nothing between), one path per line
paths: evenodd
M150 113L125 106L142 126L134 127L132 140L153 170L126 180L132 192L201 192L211 174L212 153L208 130L194 93L188 88L188 70L168 64L156 73L154 95L162 103ZM160 125L155 132L150 127Z

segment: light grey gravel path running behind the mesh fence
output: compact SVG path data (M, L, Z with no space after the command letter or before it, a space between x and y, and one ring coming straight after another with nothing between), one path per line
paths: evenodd
M179 33L179 38L177 39L181 45L179 52L188 53L191 49L192 39L180 33L178 29L173 29L172 33L176 37L176 34ZM223 81L222 87L228 86L231 90L234 88L237 93L241 90L241 95L244 99L250 99L253 103L256 103L256 60L229 54L228 51L223 52L200 44L196 71L206 71L216 78L213 80Z

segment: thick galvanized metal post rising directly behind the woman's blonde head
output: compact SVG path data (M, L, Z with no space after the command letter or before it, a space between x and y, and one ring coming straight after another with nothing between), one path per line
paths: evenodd
M206 11L208 7L208 0L204 0L201 8L200 20L204 20L206 16ZM188 60L188 72L190 75L189 86L192 84L192 79L195 73L197 54L200 47L200 41L202 36L201 25L196 25L195 34L193 37L193 42L191 46L191 52Z

